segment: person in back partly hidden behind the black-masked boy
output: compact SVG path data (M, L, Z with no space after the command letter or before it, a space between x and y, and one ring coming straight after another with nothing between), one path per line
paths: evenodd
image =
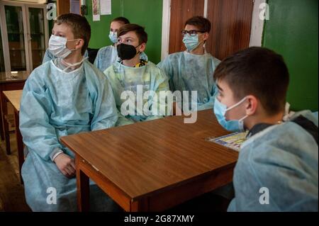
M108 35L108 38L110 38L113 44L102 47L94 60L94 66L97 67L101 72L104 72L105 69L110 67L118 59L118 51L116 50L118 43L118 29L128 23L130 23L130 21L124 17L115 18L111 22L110 34Z

